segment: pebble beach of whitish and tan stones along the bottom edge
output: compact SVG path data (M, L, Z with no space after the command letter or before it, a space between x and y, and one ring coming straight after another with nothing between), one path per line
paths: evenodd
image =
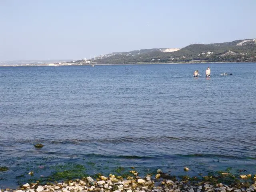
M189 168L184 168L188 171ZM174 176L163 173L158 169L155 175L138 176L136 170L131 170L134 176L108 177L99 175L97 178L83 177L65 182L40 184L26 183L17 189L1 189L1 192L255 192L256 175L239 175L240 179L233 180L230 184L217 182L216 176L202 176L202 180L196 177L184 176L182 180L176 180ZM221 177L233 177L229 173L222 173ZM172 178L172 180L171 180Z

